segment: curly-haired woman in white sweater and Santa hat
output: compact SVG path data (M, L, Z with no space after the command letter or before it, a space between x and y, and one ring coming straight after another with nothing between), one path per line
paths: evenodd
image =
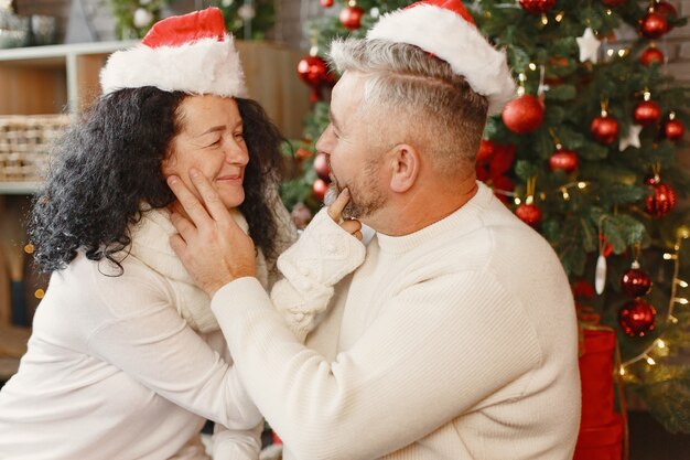
M294 238L276 193L282 138L238 97L241 67L215 9L161 21L101 83L34 203L35 259L53 275L0 393L0 458L202 459L205 419L224 427L215 458L257 458L261 416L169 245L165 176L194 167L213 181L268 282Z

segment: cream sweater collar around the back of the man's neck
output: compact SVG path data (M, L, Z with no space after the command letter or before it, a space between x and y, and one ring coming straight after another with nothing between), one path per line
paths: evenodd
M448 232L453 232L455 235L459 228L462 233L470 232L479 225L478 220L475 218L478 211L485 208L492 200L495 197L490 189L477 181L477 193L450 215L409 235L390 236L377 233L378 246L386 253L402 254Z

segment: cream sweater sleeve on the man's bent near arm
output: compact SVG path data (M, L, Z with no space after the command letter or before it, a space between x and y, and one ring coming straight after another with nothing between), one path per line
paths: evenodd
M363 299L351 290L347 301ZM300 460L395 451L541 360L521 306L486 272L410 285L334 362L294 338L255 278L222 288L212 308L247 392Z

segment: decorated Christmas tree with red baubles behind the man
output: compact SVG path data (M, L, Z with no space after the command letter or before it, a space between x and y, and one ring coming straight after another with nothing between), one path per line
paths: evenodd
M314 143L336 79L325 55L409 1L351 0L306 26L298 68L312 88L304 139L282 196L314 211L327 164ZM488 120L477 176L540 232L568 272L582 323L615 331L617 377L672 432L690 432L690 175L676 164L690 89L665 72L664 38L686 24L666 1L465 1L504 49L518 97ZM303 204L303 205L302 205ZM302 218L304 221L304 218ZM654 285L654 287L653 287ZM459 332L460 333L460 332Z

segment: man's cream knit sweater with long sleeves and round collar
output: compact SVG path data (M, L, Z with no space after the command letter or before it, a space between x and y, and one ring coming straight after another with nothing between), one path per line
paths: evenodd
M342 231L325 212L314 226L325 233L311 235L313 259L348 256L332 254ZM298 256L283 255L303 274L295 288L323 289L313 260ZM255 278L212 304L285 459L572 458L580 378L568 279L549 244L483 184L433 225L376 235L308 346Z

